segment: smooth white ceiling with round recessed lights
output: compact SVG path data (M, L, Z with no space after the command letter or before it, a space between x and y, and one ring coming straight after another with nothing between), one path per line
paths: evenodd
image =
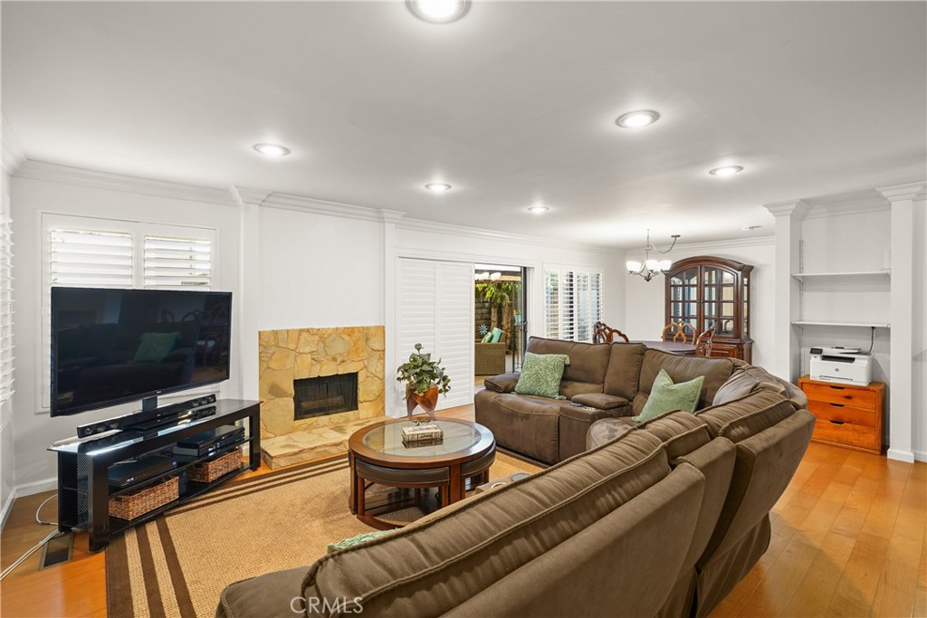
M764 203L927 173L923 2L2 12L3 112L28 158L75 167L606 246L765 235ZM616 127L638 108L662 118Z

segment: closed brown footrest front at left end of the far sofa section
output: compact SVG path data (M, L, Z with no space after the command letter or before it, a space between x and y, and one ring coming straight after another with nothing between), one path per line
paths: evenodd
M559 460L557 417L560 399L493 393L476 393L476 423L489 429L496 443L546 463Z

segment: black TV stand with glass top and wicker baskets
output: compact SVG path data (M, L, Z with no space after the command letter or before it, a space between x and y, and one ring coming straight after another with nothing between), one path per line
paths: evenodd
M260 403L240 399L220 399L215 412L201 419L181 419L160 425L150 431L109 432L88 438L70 438L53 444L49 450L57 453L58 465L58 530L86 530L91 551L105 549L109 539L138 523L158 517L164 511L184 504L204 494L245 470L260 468ZM150 511L132 521L109 516L110 491L108 468L121 460L129 460L159 448L170 448L191 435L197 435L222 425L248 419L248 463L211 483L187 483L179 499ZM209 458L203 458L209 459ZM177 475L198 460L184 461L169 473L121 487L125 492L151 485Z

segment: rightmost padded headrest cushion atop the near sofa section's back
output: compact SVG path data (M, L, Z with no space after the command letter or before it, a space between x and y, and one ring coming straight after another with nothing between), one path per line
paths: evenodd
M712 435L728 438L734 444L759 434L792 416L794 406L778 393L759 390L720 406L696 412L707 423Z

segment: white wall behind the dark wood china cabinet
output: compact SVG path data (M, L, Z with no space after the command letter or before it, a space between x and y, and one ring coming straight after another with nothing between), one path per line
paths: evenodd
M754 340L753 362L761 367L772 364L776 345L773 333L772 298L776 294L776 247L771 236L736 242L679 245L667 254L673 260L694 256L715 256L751 264L750 333ZM642 259L642 251L629 251L629 259ZM624 262L622 262L623 264ZM630 339L659 339L666 326L666 281L660 276L646 282L625 272L625 322L621 331ZM620 323L620 322L619 322Z

